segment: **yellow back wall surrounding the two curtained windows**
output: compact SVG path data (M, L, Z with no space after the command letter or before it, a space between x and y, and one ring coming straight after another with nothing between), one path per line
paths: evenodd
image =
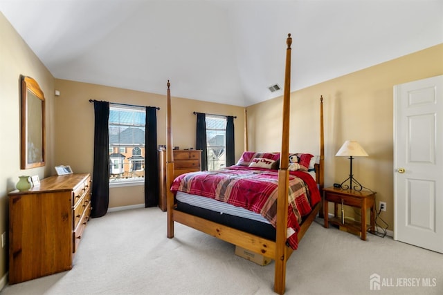
M70 165L75 173L92 173L93 169L93 104L89 99L158 106L158 144L166 144L166 96L153 93L130 91L127 89L55 79L55 89L60 96L55 97L55 165ZM165 94L166 94L165 81ZM171 95L174 84L171 82ZM235 157L244 151L244 108L201 102L172 96L173 145L180 149L195 149L197 117L193 112L234 115ZM143 186L111 187L109 207L122 207L144 204Z

